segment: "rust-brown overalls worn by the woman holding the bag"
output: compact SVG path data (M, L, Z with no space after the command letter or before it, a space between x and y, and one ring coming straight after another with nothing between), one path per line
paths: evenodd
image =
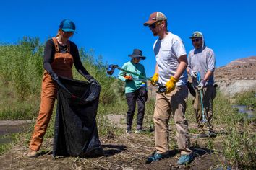
M51 67L53 68L54 73L56 73L58 76L64 76L72 79L73 57L70 54L69 40L67 41L67 52L60 53L56 37L53 37L52 39L55 45L55 54ZM56 94L57 89L55 82L51 79L51 75L44 71L40 111L38 114L38 119L35 123L33 137L30 141L30 149L33 151L38 151L42 145L43 136L46 134L46 129L53 112Z

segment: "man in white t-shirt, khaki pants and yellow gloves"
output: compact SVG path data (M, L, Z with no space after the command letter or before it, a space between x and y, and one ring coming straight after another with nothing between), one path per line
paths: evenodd
M181 157L177 164L189 164L193 159L193 153L189 149L189 128L185 118L187 89L187 53L182 40L168 32L167 18L161 12L153 12L144 23L158 36L153 49L156 65L152 84L166 86L164 93L156 94L155 112L153 116L155 124L155 148L156 153L150 156L146 163L168 158L168 120L174 117L177 131L177 143L181 151Z

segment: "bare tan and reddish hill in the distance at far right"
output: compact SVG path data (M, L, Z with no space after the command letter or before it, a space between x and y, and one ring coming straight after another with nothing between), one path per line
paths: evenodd
M242 91L256 91L256 57L241 58L216 68L214 77L220 90L228 96Z

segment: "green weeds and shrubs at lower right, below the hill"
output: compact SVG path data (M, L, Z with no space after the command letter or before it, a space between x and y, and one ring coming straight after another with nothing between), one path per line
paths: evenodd
M229 99L218 93L213 102L215 123L226 129L226 135L222 137L223 156L229 164L239 169L252 169L255 167L256 136L249 133L249 128L241 128L239 122L245 120L229 104ZM247 122L244 122L247 124ZM211 142L208 141L208 147Z

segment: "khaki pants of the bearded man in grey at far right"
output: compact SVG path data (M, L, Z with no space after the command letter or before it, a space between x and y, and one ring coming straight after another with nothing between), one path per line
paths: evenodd
M213 130L213 99L216 97L216 89L214 86L205 86L202 90L202 104L204 107L205 118L208 121L208 125ZM202 128L202 107L200 102L200 91L196 90L196 95L193 104L195 110L195 117L198 127Z

